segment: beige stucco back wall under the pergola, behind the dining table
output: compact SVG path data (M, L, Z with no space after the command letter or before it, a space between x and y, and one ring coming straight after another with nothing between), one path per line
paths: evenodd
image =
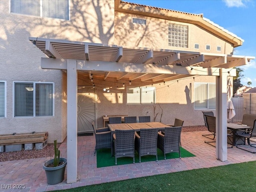
M166 82L164 85L153 84L156 87L155 105L127 105L127 87L119 87L122 81L116 82L111 78L106 80L94 79L96 85L96 121L98 127L103 127L103 118L105 115L128 115L128 116L150 116L151 120L156 116L156 121L162 121L166 124L174 124L174 119L184 120L184 126L204 125L202 111L215 109L194 109L194 83L195 82L213 82L215 76L198 76L195 78L180 79L178 82ZM79 85L92 85L87 76L79 76ZM134 84L129 86L143 86L143 84ZM169 86L169 87L168 87ZM104 92L103 88L109 88L110 92ZM156 106L154 114L154 106ZM162 110L163 112L162 112ZM162 114L162 118L161 118Z

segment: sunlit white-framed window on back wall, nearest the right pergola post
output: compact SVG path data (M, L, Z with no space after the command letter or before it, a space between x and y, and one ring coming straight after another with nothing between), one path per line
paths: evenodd
M216 108L216 84L195 83L194 84L194 108L214 109Z

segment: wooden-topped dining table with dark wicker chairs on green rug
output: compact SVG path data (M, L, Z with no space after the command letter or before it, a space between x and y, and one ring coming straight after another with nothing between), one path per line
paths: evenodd
M101 148L111 148L112 156L117 158L131 157L133 163L135 159L135 150L141 156L154 155L158 161L157 148L166 154L178 152L180 156L180 134L183 120L175 119L174 125L166 125L161 122L151 122L150 116L139 116L137 122L136 116L109 117L108 127L95 128L95 122L92 123L96 138L96 150ZM180 156L181 158L181 156Z

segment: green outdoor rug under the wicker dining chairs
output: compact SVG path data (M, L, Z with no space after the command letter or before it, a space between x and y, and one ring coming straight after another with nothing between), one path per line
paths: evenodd
M157 149L158 160L164 160L164 153ZM195 155L188 152L184 148L180 147L181 157L194 157ZM107 167L115 165L115 157L111 156L111 149L98 149L97 153L97 167ZM166 159L179 158L179 153L173 152L166 154ZM156 161L156 156L146 155L141 157L141 162ZM135 162L139 162L139 155L135 152ZM133 158L131 157L120 157L117 158L117 165L132 164Z

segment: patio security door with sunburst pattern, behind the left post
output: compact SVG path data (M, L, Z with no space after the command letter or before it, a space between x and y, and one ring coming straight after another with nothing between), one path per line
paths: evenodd
M78 86L77 88L77 132L94 132L92 122L96 119L95 88Z

